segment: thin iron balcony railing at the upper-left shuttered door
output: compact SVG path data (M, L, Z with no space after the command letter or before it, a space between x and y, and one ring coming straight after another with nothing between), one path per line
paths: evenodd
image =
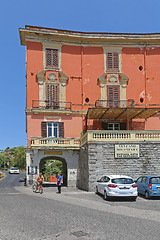
M71 110L71 102L61 102L61 101L32 101L32 108L34 109L48 109L48 110Z

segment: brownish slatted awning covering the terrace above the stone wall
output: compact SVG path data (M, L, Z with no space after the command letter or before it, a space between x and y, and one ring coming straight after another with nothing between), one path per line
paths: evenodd
M160 113L160 107L136 107L136 108L89 108L87 119L107 121L147 119Z

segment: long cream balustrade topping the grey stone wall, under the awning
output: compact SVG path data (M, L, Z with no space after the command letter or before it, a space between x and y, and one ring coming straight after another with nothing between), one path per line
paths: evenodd
M88 130L81 137L81 146L85 143L93 142L111 142L111 141L160 141L160 131L134 131L134 130Z

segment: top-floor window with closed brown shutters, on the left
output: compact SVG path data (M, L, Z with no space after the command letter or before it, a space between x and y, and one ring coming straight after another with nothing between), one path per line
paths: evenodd
M47 68L58 68L58 49L46 48L46 67Z

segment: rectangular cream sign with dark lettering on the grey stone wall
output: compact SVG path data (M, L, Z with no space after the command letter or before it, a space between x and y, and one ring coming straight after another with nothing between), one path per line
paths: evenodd
M115 144L115 158L139 158L139 145Z

